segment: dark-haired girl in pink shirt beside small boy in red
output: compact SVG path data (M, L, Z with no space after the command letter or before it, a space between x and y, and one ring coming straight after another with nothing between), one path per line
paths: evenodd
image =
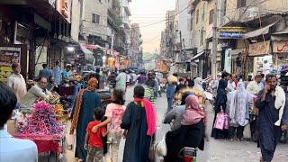
M114 90L112 93L112 103L106 107L105 117L107 118L101 124L96 125L93 131L98 130L108 124L108 140L109 143L107 158L112 161L118 161L118 149L121 140L121 120L122 115L125 112L126 107L124 106L123 92L121 90Z

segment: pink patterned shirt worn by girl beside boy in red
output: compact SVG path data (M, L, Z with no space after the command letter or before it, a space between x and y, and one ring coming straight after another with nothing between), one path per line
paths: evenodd
M125 112L126 107L124 105L119 105L115 103L110 103L106 107L105 116L111 117L112 121L108 125L108 131L112 133L121 132L121 121L123 113Z

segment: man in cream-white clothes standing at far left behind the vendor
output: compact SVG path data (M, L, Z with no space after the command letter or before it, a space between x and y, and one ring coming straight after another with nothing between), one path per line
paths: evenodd
M21 66L19 63L12 64L13 74L8 77L7 85L9 85L17 97L17 103L21 102L23 96L27 93L26 83L20 74Z

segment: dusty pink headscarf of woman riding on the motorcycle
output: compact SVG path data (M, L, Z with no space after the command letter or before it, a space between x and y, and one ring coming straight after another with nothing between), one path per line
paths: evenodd
M183 125L193 125L205 118L205 113L199 106L198 97L190 94L185 99L185 112L183 114Z

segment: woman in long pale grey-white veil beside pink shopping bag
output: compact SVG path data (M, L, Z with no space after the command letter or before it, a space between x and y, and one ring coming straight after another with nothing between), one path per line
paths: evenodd
M235 130L237 130L238 140L243 139L244 126L249 122L249 102L252 98L252 94L245 89L244 82L239 82L229 104L229 137L231 139L234 138Z

